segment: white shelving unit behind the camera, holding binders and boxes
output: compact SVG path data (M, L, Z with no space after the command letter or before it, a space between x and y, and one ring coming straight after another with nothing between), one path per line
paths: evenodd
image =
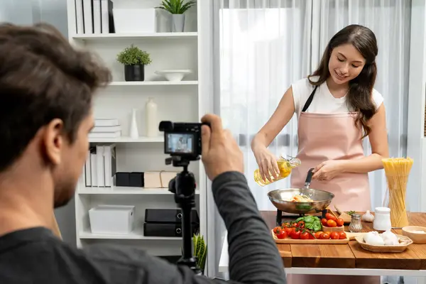
M153 5L153 1L139 2L138 4L143 8L158 6L158 3ZM114 7L125 4L126 1L114 1ZM200 108L202 99L199 97L198 53L200 48L197 33L197 6L187 11L183 33L76 34L75 0L67 0L67 9L70 43L97 53L112 72L113 82L106 89L100 90L94 98L94 117L119 119L122 129L122 136L119 138L89 138L89 142L92 144L116 143L117 171L119 172L150 170L180 172L182 168L165 165L165 158L168 158L168 155L164 154L163 133L158 133L158 137L153 138L143 136L146 133L143 124L144 111L148 97L152 97L158 104L159 121L200 121L203 108ZM151 65L145 67L143 82L126 82L124 67L116 62L116 55L131 44L148 52L153 60ZM189 69L193 72L181 82L168 82L155 75L156 70L170 69ZM129 137L133 108L138 109L138 133L141 135L136 139ZM204 168L197 161L190 164L189 170L194 173L197 180L196 209L200 216L201 234L206 238L206 224L203 220L207 218L204 206L200 205L200 200L204 199L206 191ZM98 204L135 205L136 229L126 235L92 234L88 211ZM158 256L180 255L182 238L143 236L146 208L170 209L177 208L177 204L173 194L167 188L86 187L80 182L75 192L77 246L124 244L147 249Z

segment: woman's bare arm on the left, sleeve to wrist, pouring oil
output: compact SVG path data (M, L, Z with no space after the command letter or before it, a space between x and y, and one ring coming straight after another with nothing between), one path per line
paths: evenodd
M295 102L293 99L293 89L288 88L278 104L278 107L273 112L271 118L254 136L251 141L251 149L254 150L258 146L268 147L273 139L283 130L284 126L295 113Z

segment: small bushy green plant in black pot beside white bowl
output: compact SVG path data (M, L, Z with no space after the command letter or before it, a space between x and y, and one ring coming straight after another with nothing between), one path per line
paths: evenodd
M150 55L134 46L133 44L124 48L117 55L117 61L124 65L124 80L143 81L145 80L145 65L151 64Z

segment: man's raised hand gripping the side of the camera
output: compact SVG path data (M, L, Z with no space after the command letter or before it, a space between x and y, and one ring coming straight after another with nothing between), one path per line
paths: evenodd
M210 180L221 173L237 171L244 173L244 156L228 130L222 129L222 120L214 114L201 119L209 126L202 126L202 163Z

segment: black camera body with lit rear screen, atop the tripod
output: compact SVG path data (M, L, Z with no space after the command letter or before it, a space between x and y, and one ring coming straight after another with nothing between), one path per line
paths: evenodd
M164 132L164 153L197 160L201 155L200 123L161 121L159 130ZM209 124L205 124L209 125Z

